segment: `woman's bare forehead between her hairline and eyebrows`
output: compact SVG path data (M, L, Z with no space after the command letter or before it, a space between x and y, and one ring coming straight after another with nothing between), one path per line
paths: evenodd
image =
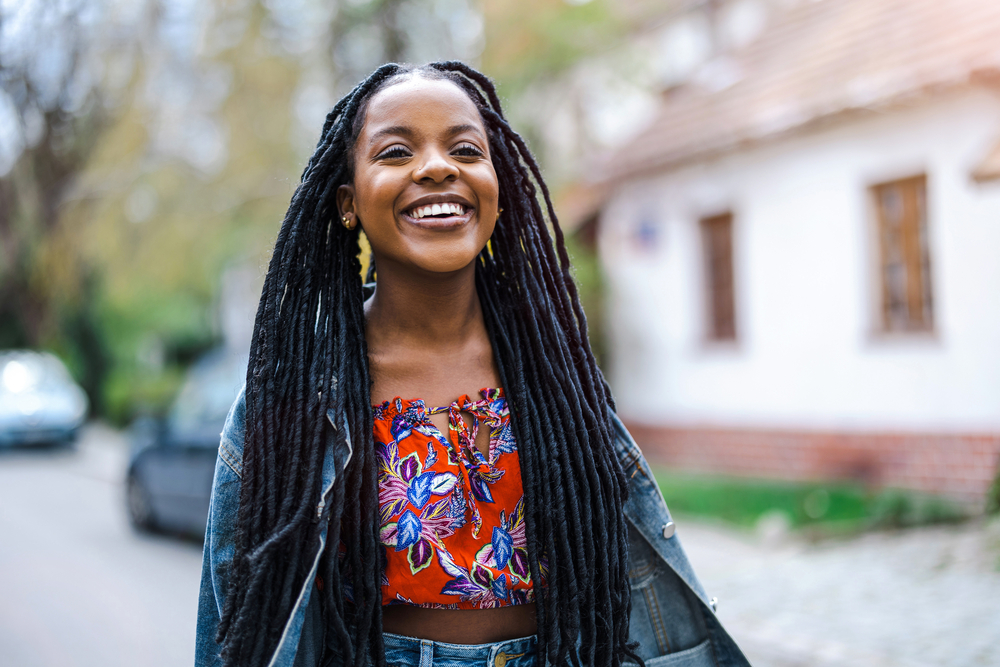
M486 135L479 110L465 91L451 81L413 76L372 96L359 138L364 141L389 127L433 133L459 125L473 125Z

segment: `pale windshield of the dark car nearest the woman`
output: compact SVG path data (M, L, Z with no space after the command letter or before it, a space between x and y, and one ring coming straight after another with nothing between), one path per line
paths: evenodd
M170 411L170 428L192 431L222 429L240 387L246 378L245 355L215 350L191 367L184 386Z

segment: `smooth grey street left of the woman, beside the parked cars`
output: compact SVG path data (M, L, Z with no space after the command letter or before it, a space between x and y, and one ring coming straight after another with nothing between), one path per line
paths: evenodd
M126 448L0 452L0 665L176 667L194 658L201 546L136 535Z

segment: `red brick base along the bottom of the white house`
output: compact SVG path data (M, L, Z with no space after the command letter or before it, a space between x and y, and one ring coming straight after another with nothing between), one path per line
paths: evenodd
M841 433L628 424L650 461L789 480L855 480L982 507L1000 466L1000 433Z

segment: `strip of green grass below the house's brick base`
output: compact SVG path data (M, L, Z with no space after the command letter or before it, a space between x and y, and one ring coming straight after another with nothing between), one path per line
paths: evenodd
M781 512L794 528L831 532L959 521L962 507L945 498L900 489L871 491L848 482L785 482L680 473L654 468L672 512L753 527Z

